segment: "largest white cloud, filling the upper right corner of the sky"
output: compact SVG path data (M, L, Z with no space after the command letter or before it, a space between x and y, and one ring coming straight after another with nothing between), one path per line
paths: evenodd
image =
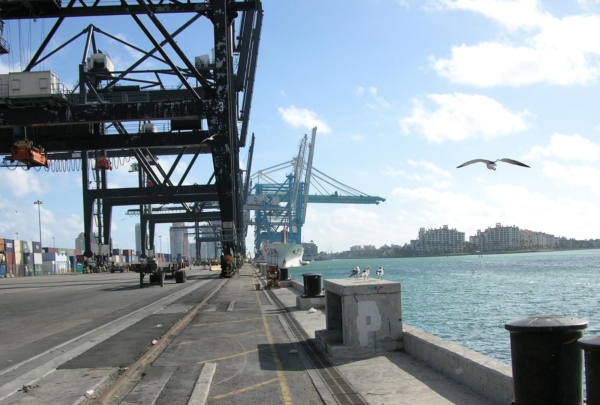
M440 0L437 9L483 14L509 32L524 30L515 43L480 42L451 49L447 59L430 59L451 82L481 87L532 83L590 84L600 75L600 16L556 18L535 0Z

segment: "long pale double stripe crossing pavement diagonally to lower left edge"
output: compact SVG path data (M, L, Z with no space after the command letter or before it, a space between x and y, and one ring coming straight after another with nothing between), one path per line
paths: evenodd
M18 367L20 367L24 364L27 364L35 359L38 359L42 356L52 353L52 352L60 349L61 347L64 347L70 343L80 340L86 336L93 334L93 333L99 332L102 329L107 329L109 326L122 321L121 324L113 325L112 328L106 330L105 332L102 332L98 336L95 336L92 340L89 340L87 342L82 342L79 346L69 350L68 352L66 352L58 357L55 357L54 359L49 360L45 364L42 364L41 366L34 368L33 370L30 370L27 373L4 384L3 386L0 387L0 401L8 398L9 396L11 396L15 392L17 392L20 388L23 387L23 385L34 384L40 378L43 378L44 376L51 373L54 369L58 368L61 364L66 363L67 361L79 356L80 354L86 352L87 350L91 349L92 347L96 346L97 344L102 343L106 339L116 335L117 333L127 329L134 323L139 322L141 319L149 316L155 310L156 306L164 306L165 305L164 303L166 301L171 301L171 302L176 301L177 299L183 297L184 295L189 294L191 291L193 291L197 288L200 288L201 286L203 286L204 284L206 284L208 282L209 282L209 280L199 281L199 282L191 285L190 287L179 290L178 292L168 295L164 298L161 298L160 300L155 301L152 304L148 304L140 309L137 309L136 311L133 311L130 314L124 315L118 319L115 319L114 321L108 322L102 326L92 329L89 332L86 332L86 333L84 333L80 336L77 336L65 343L62 343L62 344L55 346L49 350L46 350L43 353L33 356L30 359L27 359L17 365L13 365L13 366L3 370L2 372L0 372L0 375L14 371Z

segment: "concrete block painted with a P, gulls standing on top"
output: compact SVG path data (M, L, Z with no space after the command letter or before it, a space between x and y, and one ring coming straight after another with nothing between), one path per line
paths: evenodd
M325 280L327 329L317 342L332 357L402 349L401 285L387 280Z

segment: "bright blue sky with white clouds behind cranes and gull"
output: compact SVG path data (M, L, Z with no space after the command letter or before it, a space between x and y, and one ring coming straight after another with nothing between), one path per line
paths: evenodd
M468 238L496 223L600 238L600 1L264 0L263 9L252 173L291 160L316 126L314 167L386 199L309 205L304 242L338 252L403 245L420 228L444 225ZM119 18L67 20L58 39L93 23L146 49L139 28ZM171 29L183 21L160 18ZM21 54L33 54L51 26L10 21L4 37L13 53L0 56L0 73L18 71ZM191 56L209 53L211 29L204 21L187 36L193 40L182 34L178 43ZM110 39L98 46L117 70L136 54ZM82 49L72 48L41 67L70 87ZM190 183L210 177L204 158ZM456 168L478 158L530 168ZM131 162L122 163L109 172L110 186L135 186ZM73 247L83 231L81 173L0 169L0 237L39 239L36 200L44 201L43 245ZM126 209L113 211L115 248L135 248L139 218ZM166 245L168 225L157 226L158 234Z

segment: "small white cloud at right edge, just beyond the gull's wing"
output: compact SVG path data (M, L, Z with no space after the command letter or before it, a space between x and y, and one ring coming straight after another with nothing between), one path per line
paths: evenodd
M600 145L580 135L562 135L555 133L548 146L534 146L524 156L525 159L555 157L562 160L597 161L600 157Z

